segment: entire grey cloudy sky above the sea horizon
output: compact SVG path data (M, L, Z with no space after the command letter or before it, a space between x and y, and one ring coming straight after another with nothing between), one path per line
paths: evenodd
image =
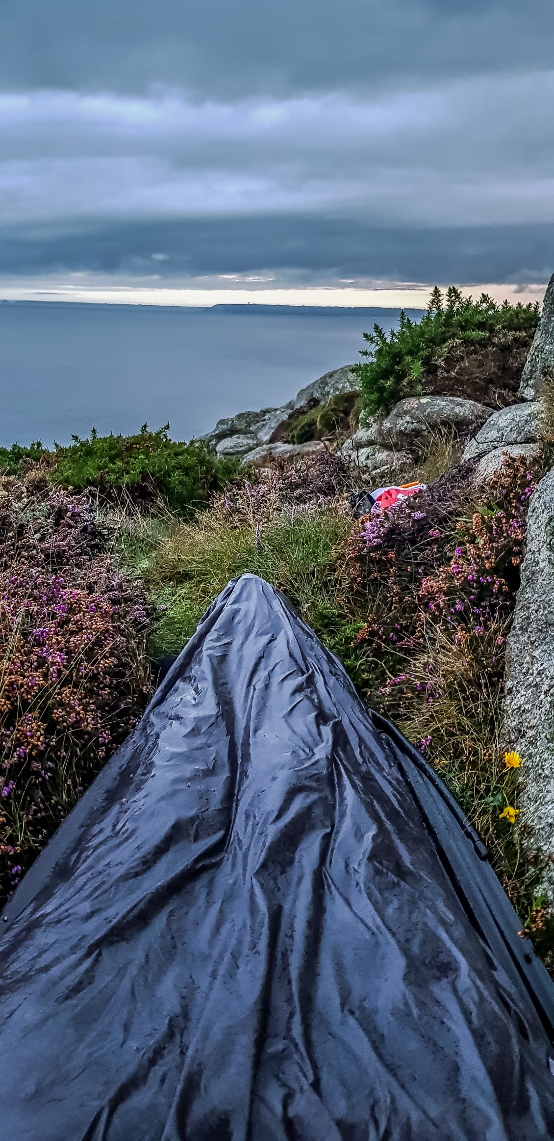
M541 283L553 48L552 0L1 0L3 292Z

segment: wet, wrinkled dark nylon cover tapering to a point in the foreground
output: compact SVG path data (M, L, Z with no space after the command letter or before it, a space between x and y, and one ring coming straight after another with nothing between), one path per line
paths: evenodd
M1 1141L553 1136L552 985L439 800L287 601L230 583L6 911Z

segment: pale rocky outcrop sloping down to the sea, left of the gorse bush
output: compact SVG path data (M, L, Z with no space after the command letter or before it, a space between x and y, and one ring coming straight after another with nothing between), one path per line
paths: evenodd
M324 373L311 385L301 388L293 400L280 407L261 408L260 412L239 412L236 416L218 420L213 431L202 438L210 447L214 447L219 455L246 455L259 445L268 444L295 408L302 407L310 400L328 404L333 396L356 390L358 378L351 370L352 365L344 365L342 369Z

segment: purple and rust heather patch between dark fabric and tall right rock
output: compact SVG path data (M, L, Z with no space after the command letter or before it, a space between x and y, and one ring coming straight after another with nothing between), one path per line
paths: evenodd
M506 636L540 460L510 461L478 496L454 469L355 528L352 594L367 621L364 689L438 769L554 968L540 867L514 827L518 776L500 747ZM536 917L540 914L540 928Z

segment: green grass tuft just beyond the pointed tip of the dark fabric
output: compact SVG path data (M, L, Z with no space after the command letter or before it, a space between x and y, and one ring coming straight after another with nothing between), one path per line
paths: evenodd
M144 577L155 607L152 656L179 653L210 602L244 572L282 590L324 638L327 631L336 638L341 591L336 550L350 526L342 502L325 509L290 509L262 528L254 523L226 526L212 512L194 523L137 520L119 542L128 573Z

